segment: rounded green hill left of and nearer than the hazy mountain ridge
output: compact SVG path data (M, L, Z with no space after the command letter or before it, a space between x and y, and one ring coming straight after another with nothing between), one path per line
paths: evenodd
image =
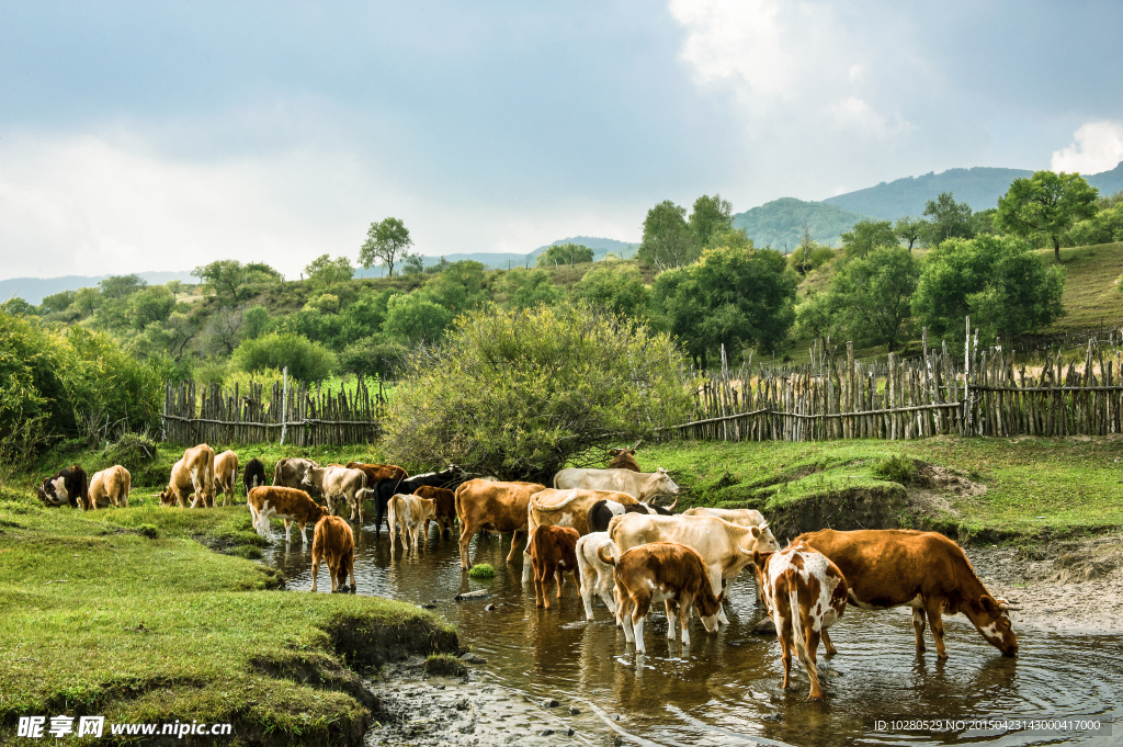
M772 246L786 253L800 245L804 226L811 238L834 246L842 231L850 230L862 218L866 216L833 204L785 197L737 213L733 227L743 228L755 246Z

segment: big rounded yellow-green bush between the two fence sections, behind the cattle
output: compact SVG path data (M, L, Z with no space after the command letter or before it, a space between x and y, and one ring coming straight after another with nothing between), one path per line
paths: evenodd
M587 307L484 307L405 363L386 456L545 480L682 422L691 406L683 367L667 335Z

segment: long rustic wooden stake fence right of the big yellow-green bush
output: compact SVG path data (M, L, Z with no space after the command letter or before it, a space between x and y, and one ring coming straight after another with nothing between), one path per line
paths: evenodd
M1026 366L1014 350L982 348L978 330L964 350L946 344L903 361L864 363L813 350L800 366L725 364L703 374L695 417L660 428L663 438L825 440L978 436L1072 436L1123 432L1120 381L1123 329L1089 337L1083 366L1060 350ZM1024 357L1024 356L1023 356Z

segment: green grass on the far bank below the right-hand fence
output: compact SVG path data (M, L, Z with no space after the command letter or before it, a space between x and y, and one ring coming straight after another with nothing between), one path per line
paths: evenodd
M1123 443L1106 439L958 438L922 441L673 441L646 447L688 490L681 505L746 504L765 511L846 488L884 486L886 462L911 457L987 486L947 494L957 516L933 517L973 535L1072 536L1123 526ZM1043 517L1043 518L1038 518Z

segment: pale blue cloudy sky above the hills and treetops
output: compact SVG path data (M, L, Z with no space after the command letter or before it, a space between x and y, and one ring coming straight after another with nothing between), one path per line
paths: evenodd
M967 166L1123 160L1123 3L0 0L0 279L295 276L636 242Z

